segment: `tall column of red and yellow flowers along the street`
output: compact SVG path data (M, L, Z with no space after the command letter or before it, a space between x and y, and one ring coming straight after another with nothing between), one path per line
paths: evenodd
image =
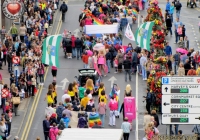
M154 97L156 97L151 109L155 109L160 112L162 100L161 78L162 76L166 76L168 73L167 58L164 54L164 47L166 45L164 26L165 22L162 11L158 6L158 1L155 0L150 3L147 13L148 15L144 21L155 22L151 37L151 44L154 49L153 53L151 54L153 69L150 71L150 75L147 79L147 87L152 93L154 93Z

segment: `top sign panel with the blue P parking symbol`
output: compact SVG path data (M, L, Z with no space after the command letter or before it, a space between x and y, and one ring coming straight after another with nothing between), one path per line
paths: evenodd
M188 85L188 84L200 84L200 77L179 77L179 76L173 76L173 77L162 77L162 85Z

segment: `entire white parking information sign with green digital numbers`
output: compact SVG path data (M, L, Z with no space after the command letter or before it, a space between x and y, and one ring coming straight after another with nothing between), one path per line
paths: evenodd
M200 77L162 77L162 123L200 124Z

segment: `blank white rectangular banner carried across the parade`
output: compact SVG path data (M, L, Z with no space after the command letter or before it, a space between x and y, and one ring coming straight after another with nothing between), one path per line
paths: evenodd
M118 24L114 25L85 25L86 34L116 34Z

